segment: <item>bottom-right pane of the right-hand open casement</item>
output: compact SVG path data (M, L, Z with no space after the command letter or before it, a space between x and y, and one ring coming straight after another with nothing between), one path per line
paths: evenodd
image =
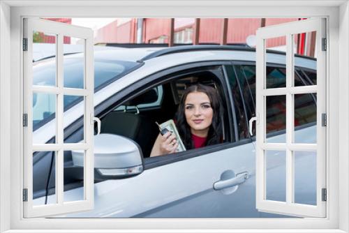
M295 203L316 205L316 152L295 151Z

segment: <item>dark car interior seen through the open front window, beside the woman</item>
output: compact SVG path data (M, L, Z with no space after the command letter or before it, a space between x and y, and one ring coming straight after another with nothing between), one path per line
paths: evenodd
M184 90L193 84L206 84L222 93L218 78L209 71L186 74L161 84L162 96L153 87L114 107L101 118L101 133L122 135L137 142L144 158L148 158L159 130L156 122L174 119ZM160 98L161 101L157 101ZM149 105L154 103L154 105ZM148 107L140 107L148 105Z

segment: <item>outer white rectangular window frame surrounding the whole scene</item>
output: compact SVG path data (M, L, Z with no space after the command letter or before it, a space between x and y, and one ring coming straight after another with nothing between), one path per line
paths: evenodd
M43 4L51 6L43 6ZM83 4L90 6L83 6ZM255 4L258 6L254 6ZM35 7L32 7L33 5ZM96 8L96 5L101 6ZM329 140L327 141L327 154L329 156L327 156L327 180L329 185L327 186L327 218L210 220L22 218L23 141L19 140L22 138L22 17L135 16L328 17L327 138ZM102 226L114 232L122 232L120 229L134 229L133 232L200 232L200 229L204 231L206 228L210 230L205 230L205 232L243 232L242 229L250 229L249 232L349 232L349 82L346 78L349 76L348 40L349 6L347 1L261 2L245 0L205 1L203 4L189 0L185 2L71 0L50 1L50 3L46 1L1 1L0 232L33 232L33 229L35 232L78 232L78 229L82 230L79 232L87 229L90 229L89 232L101 232L98 229ZM341 47L340 50L339 47ZM339 127L339 122L341 127ZM10 137L8 137L8 132L10 132ZM116 228L119 231L115 230ZM266 228L268 230L263 230Z

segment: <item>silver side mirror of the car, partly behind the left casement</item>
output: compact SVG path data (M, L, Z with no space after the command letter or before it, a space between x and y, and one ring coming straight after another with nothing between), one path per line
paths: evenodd
M84 165L84 153L72 151L73 164ZM142 153L136 142L120 135L94 135L95 180L121 179L143 172Z

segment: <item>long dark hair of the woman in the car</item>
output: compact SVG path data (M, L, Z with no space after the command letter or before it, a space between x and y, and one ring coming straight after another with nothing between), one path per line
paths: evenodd
M191 92L203 92L207 94L211 102L213 116L211 126L209 126L209 133L207 135L205 146L221 143L223 135L221 117L223 116L223 110L221 107L221 101L218 96L218 92L213 87L209 87L204 84L195 84L191 87L188 87L186 91L184 91L176 114L177 130L179 135L181 136L181 140L183 141L184 146L186 146L186 149L194 148L194 144L191 139L191 127L186 122L185 115L186 97Z

